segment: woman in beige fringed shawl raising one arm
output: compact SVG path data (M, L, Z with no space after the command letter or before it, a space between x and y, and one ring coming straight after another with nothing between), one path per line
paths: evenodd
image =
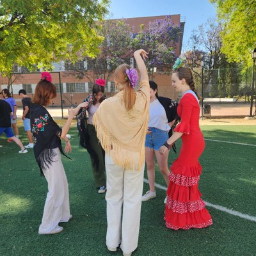
M131 255L138 246L150 99L143 61L147 52L135 51L134 58L140 71L138 91L134 91L137 71L127 64L118 66L114 77L120 92L104 100L93 116L97 136L106 152L106 245L115 252L120 244L124 256Z

